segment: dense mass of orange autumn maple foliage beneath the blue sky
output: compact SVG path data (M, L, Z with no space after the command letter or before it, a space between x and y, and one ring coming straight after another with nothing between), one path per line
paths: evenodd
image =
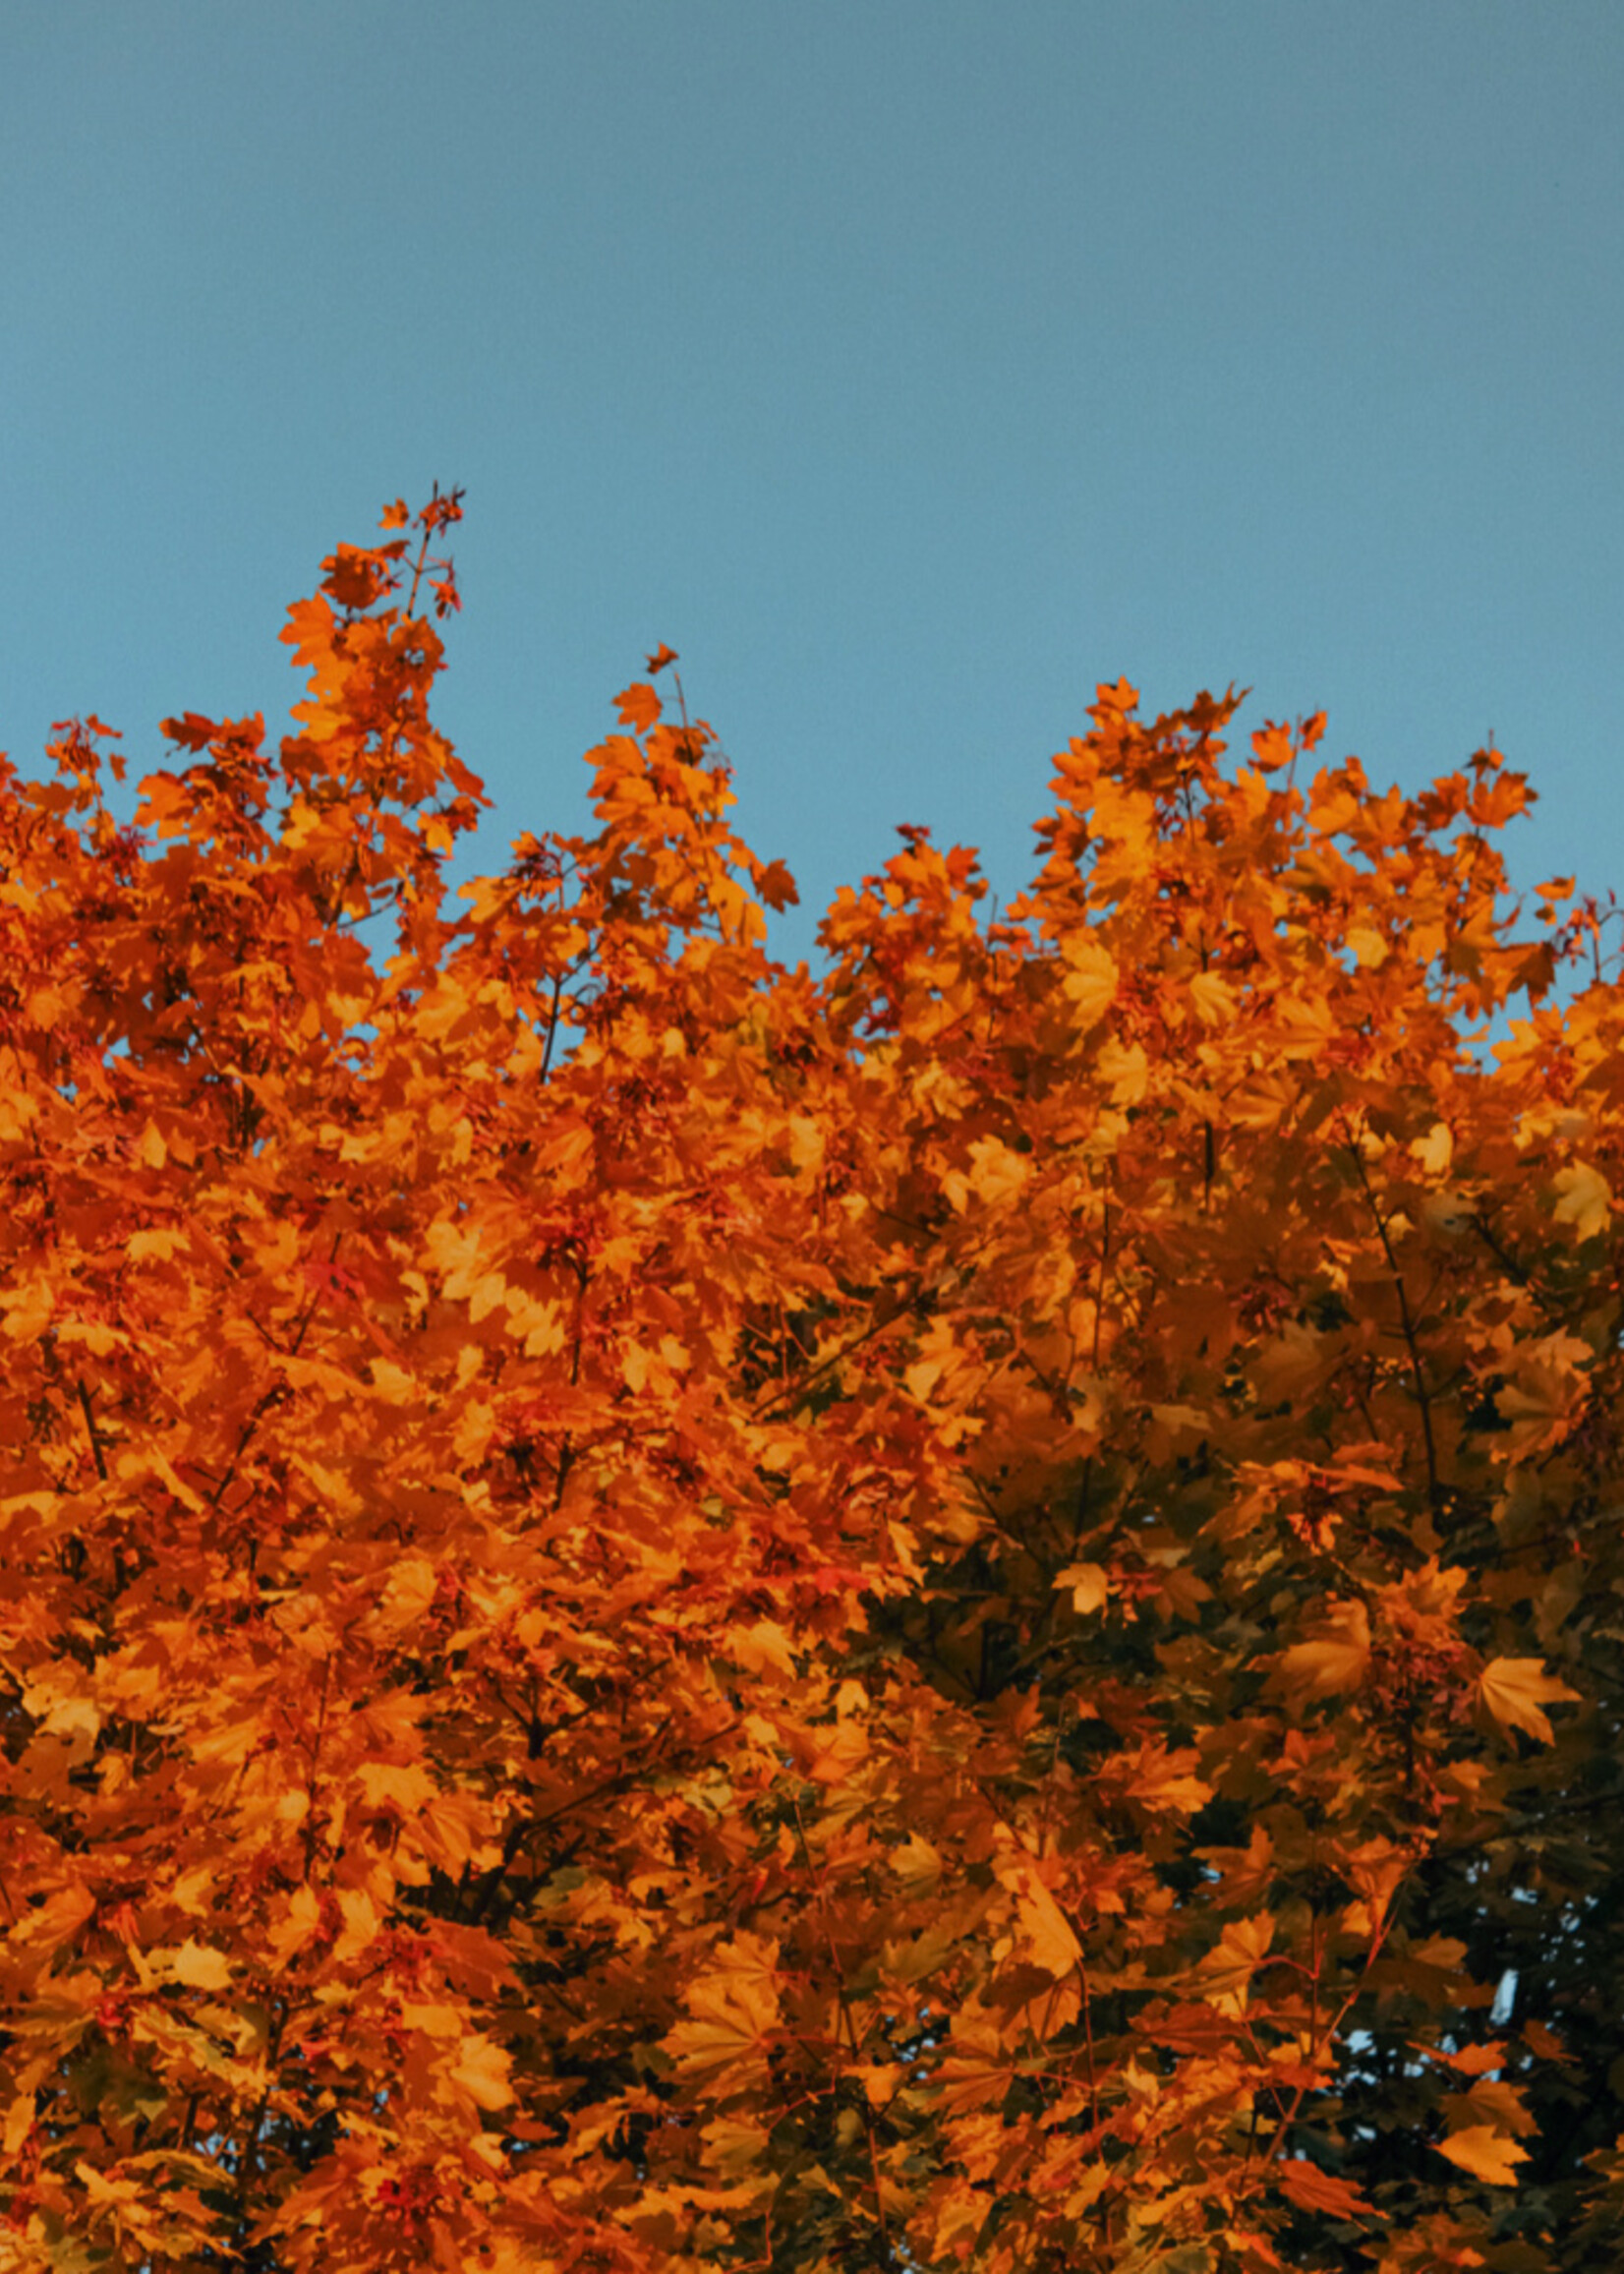
M660 650L459 905L457 518L280 748L0 782L7 2263L1613 2265L1624 996L1524 780L1103 687L1005 921L905 830L812 976Z

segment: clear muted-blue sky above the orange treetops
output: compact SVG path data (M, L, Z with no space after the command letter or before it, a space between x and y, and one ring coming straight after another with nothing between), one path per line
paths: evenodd
M280 719L464 484L489 860L682 655L807 903L1030 869L1096 680L1490 730L1624 885L1619 0L55 0L0 73L0 744Z

